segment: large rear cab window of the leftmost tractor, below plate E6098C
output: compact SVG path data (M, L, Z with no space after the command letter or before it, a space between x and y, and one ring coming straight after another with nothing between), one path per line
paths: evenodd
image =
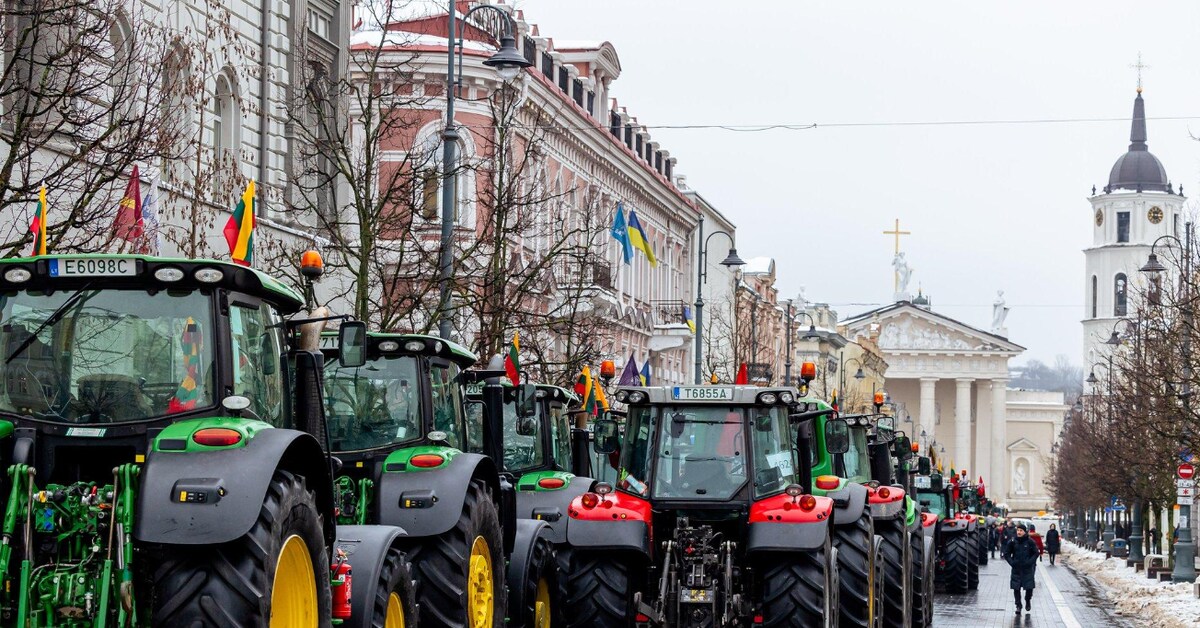
M211 295L0 293L0 412L124 423L210 407Z

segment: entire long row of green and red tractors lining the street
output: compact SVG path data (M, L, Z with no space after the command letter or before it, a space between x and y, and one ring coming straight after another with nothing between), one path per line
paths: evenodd
M882 399L805 365L593 413L301 270L0 261L0 626L923 627L978 585L982 488Z

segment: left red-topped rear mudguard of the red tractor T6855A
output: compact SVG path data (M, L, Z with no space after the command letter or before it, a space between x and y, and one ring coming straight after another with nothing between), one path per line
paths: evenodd
M571 501L566 543L589 550L634 550L650 554L650 502L612 492L594 508L583 507L583 496Z

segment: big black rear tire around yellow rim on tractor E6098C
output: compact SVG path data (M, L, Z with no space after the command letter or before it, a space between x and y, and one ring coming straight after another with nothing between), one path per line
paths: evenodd
M258 520L241 538L216 546L161 549L154 570L151 624L188 628L266 626L284 540L299 537L316 576L316 616L329 626L329 554L317 496L302 476L276 471Z

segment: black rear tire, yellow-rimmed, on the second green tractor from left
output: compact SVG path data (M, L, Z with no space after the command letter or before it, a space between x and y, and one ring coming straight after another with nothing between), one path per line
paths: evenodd
M472 480L458 521L449 531L407 545L416 576L418 617L424 626L466 628L469 612L486 612L469 604L468 574L472 548L482 539L492 558L492 622L504 626L504 537L491 491L482 480Z

